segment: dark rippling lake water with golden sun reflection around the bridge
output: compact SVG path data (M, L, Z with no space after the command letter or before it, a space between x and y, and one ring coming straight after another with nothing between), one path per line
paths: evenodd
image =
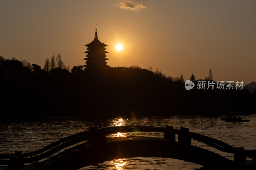
M156 115L156 116L115 116L101 118L17 118L0 119L0 153L14 153L17 150L30 152L40 149L58 139L88 130L89 127L110 127L121 125L148 125L165 127L173 126L189 128L191 132L199 133L221 140L235 147L256 149L256 115L241 116L250 122L225 122L220 117L224 115ZM132 132L108 135L116 136L150 136L161 137L161 133ZM220 152L205 144L192 140L192 145L209 149L228 159L232 154ZM102 162L81 168L94 169L200 169L202 166L169 158L129 158Z

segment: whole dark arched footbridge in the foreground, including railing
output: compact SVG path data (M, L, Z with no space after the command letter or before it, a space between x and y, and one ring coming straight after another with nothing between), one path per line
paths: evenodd
M156 137L112 137L106 135L124 132L159 132L164 138ZM178 139L176 140L176 134ZM207 144L223 152L233 153L229 160L217 153L191 145L191 139ZM56 154L60 150L71 147ZM54 155L54 156L52 156ZM52 156L52 157L51 157ZM51 157L47 159L48 157ZM116 126L92 127L60 139L48 146L28 153L0 154L0 170L76 170L99 162L132 157L164 157L185 160L216 169L256 169L255 150L233 147L220 140L189 132L187 128L173 129L172 126ZM246 157L251 161L246 161ZM42 161L43 159L43 161Z

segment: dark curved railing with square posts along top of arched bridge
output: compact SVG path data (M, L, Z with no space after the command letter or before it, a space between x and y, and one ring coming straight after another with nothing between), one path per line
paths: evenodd
M226 144L220 140L212 137L207 137L197 133L189 132L188 128L174 129L172 126L164 127L153 127L153 126L116 126L107 128L92 127L88 131L80 132L63 139L60 139L52 144L45 146L39 150L23 153L16 152L15 154L0 154L0 165L8 165L13 159L17 159L20 164L31 163L46 157L49 157L56 152L88 140L89 143L93 144L104 144L106 142L106 135L113 133L125 133L125 132L160 132L164 133L164 139L176 141L176 134L178 135L178 142L184 146L191 145L191 139L200 141L207 144L215 149L223 152L233 153L236 161L245 161L245 157L255 158L255 154L251 151L246 152L242 148L235 148L229 144ZM7 160L6 158L10 158Z

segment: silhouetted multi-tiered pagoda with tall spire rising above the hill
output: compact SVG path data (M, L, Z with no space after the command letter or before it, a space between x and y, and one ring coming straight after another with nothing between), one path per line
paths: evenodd
M87 47L88 51L85 51L86 57L84 60L86 60L86 64L84 67L87 69L101 69L105 68L107 64L107 60L109 60L106 55L108 53L105 47L107 47L106 44L103 44L102 42L99 41L98 39L98 33L97 33L97 24L96 24L96 29L95 29L95 37L94 40L85 45Z

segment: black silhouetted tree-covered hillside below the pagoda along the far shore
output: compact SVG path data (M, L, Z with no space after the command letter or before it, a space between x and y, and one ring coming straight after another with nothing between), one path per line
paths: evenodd
M57 60L56 60L57 59ZM210 74L210 71L209 71ZM211 76L208 78L212 80ZM194 74L191 81L196 81ZM255 112L256 92L186 90L184 78L139 66L71 72L58 54L44 68L0 56L0 117L86 116L92 114L220 114ZM208 80L207 80L208 81Z

